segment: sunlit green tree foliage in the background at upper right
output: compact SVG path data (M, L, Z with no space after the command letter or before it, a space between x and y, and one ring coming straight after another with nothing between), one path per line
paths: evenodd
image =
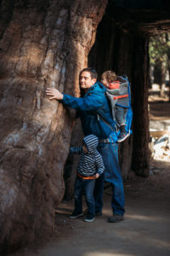
M166 80L167 74L170 78L170 32L150 37L149 53L150 70L153 74L150 81L160 84L160 96L164 97L166 83L170 86L169 79Z

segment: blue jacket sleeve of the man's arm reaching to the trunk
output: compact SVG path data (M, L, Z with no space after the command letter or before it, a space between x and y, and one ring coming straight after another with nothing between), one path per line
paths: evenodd
M101 108L103 96L101 93L92 93L88 96L77 98L64 94L62 102L70 108L89 111Z

